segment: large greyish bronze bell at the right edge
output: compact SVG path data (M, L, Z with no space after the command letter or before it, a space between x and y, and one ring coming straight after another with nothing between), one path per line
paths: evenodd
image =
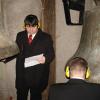
M91 69L89 81L100 83L100 6L87 11L83 31L75 56L85 58Z

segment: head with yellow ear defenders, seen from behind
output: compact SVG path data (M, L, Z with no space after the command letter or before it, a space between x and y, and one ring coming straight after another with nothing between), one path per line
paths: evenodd
M89 78L90 71L88 63L84 58L75 57L70 59L66 65L66 77L67 78Z

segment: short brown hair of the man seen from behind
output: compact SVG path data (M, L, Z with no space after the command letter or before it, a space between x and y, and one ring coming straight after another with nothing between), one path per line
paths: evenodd
M76 69L76 67L79 67L86 71L86 69L88 68L88 63L84 58L75 57L67 62L67 66L69 66L70 70L74 70Z

